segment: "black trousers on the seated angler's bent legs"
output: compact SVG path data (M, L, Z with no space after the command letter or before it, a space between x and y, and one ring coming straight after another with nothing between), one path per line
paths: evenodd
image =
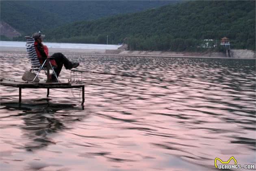
M57 64L57 67L54 68L54 72L56 73L57 77L59 77L59 74L61 73L63 64L67 70L72 68L72 62L69 61L62 53L54 53L52 57L54 57Z

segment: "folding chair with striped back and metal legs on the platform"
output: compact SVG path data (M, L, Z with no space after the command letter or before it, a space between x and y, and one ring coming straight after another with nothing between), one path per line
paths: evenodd
M54 74L54 76L56 77L56 79L59 82L59 79L54 71L54 68L52 67L52 64L50 63L50 58L54 59L53 57L47 57L47 59L43 62L43 64L41 65L39 62L39 59L37 57L37 52L35 50L35 39L31 38L30 36L25 36L26 38L26 51L28 52L28 59L30 59L31 61L31 69L30 71L33 72L37 72L37 75L35 76L35 78L33 79L32 82L35 81L35 79L38 77L40 71L46 70L46 65L47 63L50 65L50 69L52 69L52 72ZM49 70L47 69L47 80L49 80Z

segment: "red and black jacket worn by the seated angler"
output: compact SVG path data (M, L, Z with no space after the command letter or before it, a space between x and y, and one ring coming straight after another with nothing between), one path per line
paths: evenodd
M35 50L37 52L39 62L42 65L49 55L48 47L41 43L35 42ZM52 64L52 66L57 66L56 61L54 59L50 59L50 63Z

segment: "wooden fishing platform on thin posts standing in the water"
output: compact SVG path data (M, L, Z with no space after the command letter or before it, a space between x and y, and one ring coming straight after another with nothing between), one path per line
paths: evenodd
M82 87L82 104L85 102L85 84L71 84L69 82L53 82L46 83L43 81L40 82L25 82L23 80L17 79L5 79L1 78L0 85L9 86L9 87L18 87L19 88L19 103L22 101L22 89L47 89L47 97L50 94L50 89L70 89L70 88L80 88Z

